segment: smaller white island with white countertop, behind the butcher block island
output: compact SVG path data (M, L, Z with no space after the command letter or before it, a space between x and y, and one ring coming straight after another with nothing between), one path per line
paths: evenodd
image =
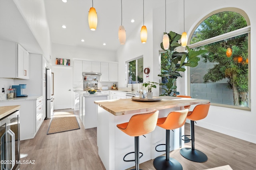
M108 94L82 92L79 95L79 117L84 125L84 129L97 127L97 106L94 104L94 101L107 100Z

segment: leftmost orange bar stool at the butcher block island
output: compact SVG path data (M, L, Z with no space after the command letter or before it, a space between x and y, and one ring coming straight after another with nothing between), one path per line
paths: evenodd
M125 157L128 155L126 154L123 158L125 162L133 162L135 161L135 169L140 169L140 158L143 156L142 152L140 152L139 149L139 136L146 135L147 133L150 133L154 131L156 128L156 122L158 118L158 110L151 113L142 113L133 115L129 122L122 123L116 125L118 129L123 131L129 136L134 136L134 145L135 145L135 152L130 152L128 154L135 153L135 160L125 160ZM141 156L139 156L142 154Z

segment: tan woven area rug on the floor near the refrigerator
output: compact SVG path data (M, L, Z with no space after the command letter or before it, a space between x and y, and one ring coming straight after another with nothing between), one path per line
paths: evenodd
M80 126L73 111L54 112L47 135L76 129L80 129Z

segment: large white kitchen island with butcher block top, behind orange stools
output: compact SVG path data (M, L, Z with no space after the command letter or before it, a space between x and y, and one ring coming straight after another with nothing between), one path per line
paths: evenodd
M194 104L205 104L208 100L177 98L172 96L160 96L162 100L156 102L139 102L132 99L119 99L107 101L94 101L98 105L98 126L97 145L98 154L106 170L127 169L135 165L134 162L124 162L123 157L128 152L134 151L134 137L130 137L120 131L116 125L128 122L132 115L159 110L158 117L166 117L170 111L184 109L184 106ZM140 162L154 159L164 152L156 152L158 144L165 143L165 129L156 129L140 137L140 152L144 155ZM184 141L180 137L184 135L184 126L171 131L170 150L184 146ZM159 150L164 150L160 148ZM134 159L130 156L126 159Z

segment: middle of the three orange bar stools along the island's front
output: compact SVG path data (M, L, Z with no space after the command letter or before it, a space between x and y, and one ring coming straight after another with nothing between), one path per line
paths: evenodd
M182 170L182 165L174 158L170 158L170 130L182 127L186 122L188 109L181 111L172 111L167 117L162 117L157 120L156 125L166 129L166 143L165 150L157 150L158 152L166 152L166 156L158 156L154 159L154 167L156 170ZM156 148L160 145L157 145Z

